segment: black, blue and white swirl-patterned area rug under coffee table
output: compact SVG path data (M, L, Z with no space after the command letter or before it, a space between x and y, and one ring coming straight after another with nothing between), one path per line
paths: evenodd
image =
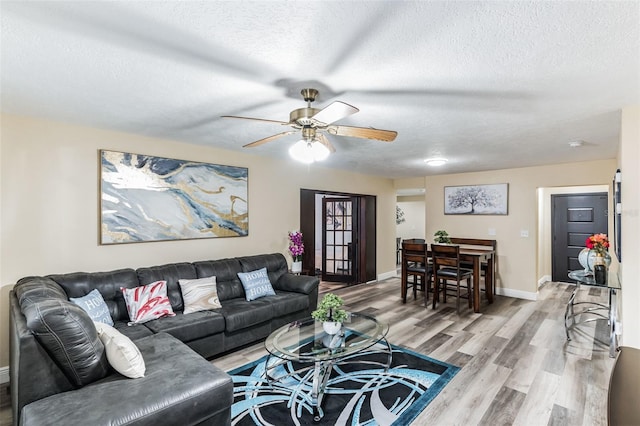
M460 370L458 367L391 345L391 368L369 363L333 367L322 401L322 419L313 420L310 376L293 374L271 384L265 379L267 356L229 371L233 378L233 425L394 425L410 424ZM383 362L377 351L359 360ZM309 364L287 363L287 373ZM279 376L279 375L278 375Z

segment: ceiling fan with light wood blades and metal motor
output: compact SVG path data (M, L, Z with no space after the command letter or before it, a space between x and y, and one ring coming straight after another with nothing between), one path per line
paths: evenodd
M302 89L300 93L302 94L303 99L307 102L307 107L298 108L291 111L291 113L289 114L288 122L268 120L264 118L240 117L237 115L223 115L222 117L266 121L269 123L289 125L295 129L287 130L286 132L267 136L266 138L248 143L244 145L244 148L260 146L274 139L278 139L280 137L291 135L301 131L302 139L309 145L312 142L319 142L320 144L324 145L330 152L335 152L335 148L322 132L326 132L334 136L351 136L354 138L375 139L383 142L392 142L398 134L398 132L395 132L393 130L381 130L374 129L372 127L335 125L333 123L352 114L355 114L359 111L359 109L340 101L332 102L329 106L323 109L312 108L311 103L315 101L316 96L318 96L318 91L316 89L309 88Z

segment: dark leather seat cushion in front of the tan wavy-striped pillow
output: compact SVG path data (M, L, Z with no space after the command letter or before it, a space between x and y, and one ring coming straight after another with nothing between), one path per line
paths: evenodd
M190 342L215 333L222 333L225 319L220 312L216 311L200 311L188 315L178 312L175 317L160 318L149 321L145 325L154 333L164 331L183 342Z

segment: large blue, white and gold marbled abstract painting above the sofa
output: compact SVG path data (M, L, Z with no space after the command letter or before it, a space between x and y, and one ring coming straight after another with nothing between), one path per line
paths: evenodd
M100 151L101 244L249 234L244 167Z

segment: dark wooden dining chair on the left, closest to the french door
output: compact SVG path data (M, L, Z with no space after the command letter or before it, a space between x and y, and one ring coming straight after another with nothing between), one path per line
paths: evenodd
M426 243L402 242L402 303L407 303L407 291L413 289L413 300L417 291L424 293L424 305L427 306L432 268L429 262Z

